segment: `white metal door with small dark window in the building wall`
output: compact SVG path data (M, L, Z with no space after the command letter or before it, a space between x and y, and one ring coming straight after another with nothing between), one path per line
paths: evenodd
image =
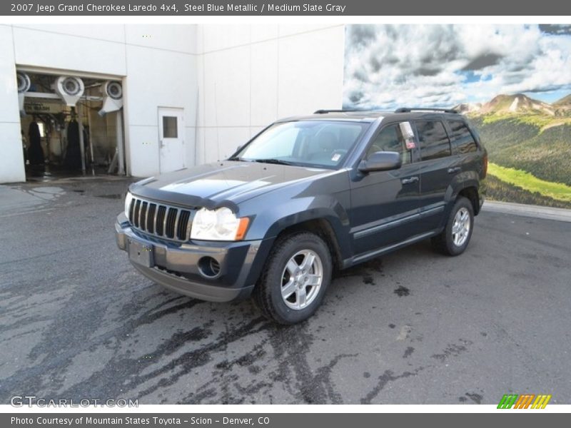
M182 108L158 108L159 168L161 173L184 168L184 122Z

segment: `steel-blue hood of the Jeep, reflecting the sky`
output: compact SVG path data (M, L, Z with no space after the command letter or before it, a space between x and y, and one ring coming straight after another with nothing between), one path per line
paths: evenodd
M143 198L189 207L238 204L284 185L329 175L335 170L271 163L223 161L147 178L131 185Z

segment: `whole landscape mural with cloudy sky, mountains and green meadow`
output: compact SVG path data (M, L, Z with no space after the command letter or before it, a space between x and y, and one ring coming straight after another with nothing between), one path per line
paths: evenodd
M488 198L571 208L571 25L345 28L343 108L454 107L490 155Z

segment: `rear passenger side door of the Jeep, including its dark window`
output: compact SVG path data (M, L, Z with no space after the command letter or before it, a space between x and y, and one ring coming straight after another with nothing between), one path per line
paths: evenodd
M461 168L455 165L450 139L443 121L415 121L420 148L420 220L423 231L434 230L443 222L446 193L453 176ZM450 190L449 190L450 188Z

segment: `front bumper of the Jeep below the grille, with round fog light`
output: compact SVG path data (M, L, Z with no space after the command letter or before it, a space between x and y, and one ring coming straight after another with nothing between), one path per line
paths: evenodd
M115 223L117 246L149 279L183 295L211 302L229 302L248 297L260 275L273 240L238 242L171 243L131 228L123 213ZM148 256L133 248L144 248ZM137 254L138 253L138 254ZM220 270L206 277L203 258L213 258Z

